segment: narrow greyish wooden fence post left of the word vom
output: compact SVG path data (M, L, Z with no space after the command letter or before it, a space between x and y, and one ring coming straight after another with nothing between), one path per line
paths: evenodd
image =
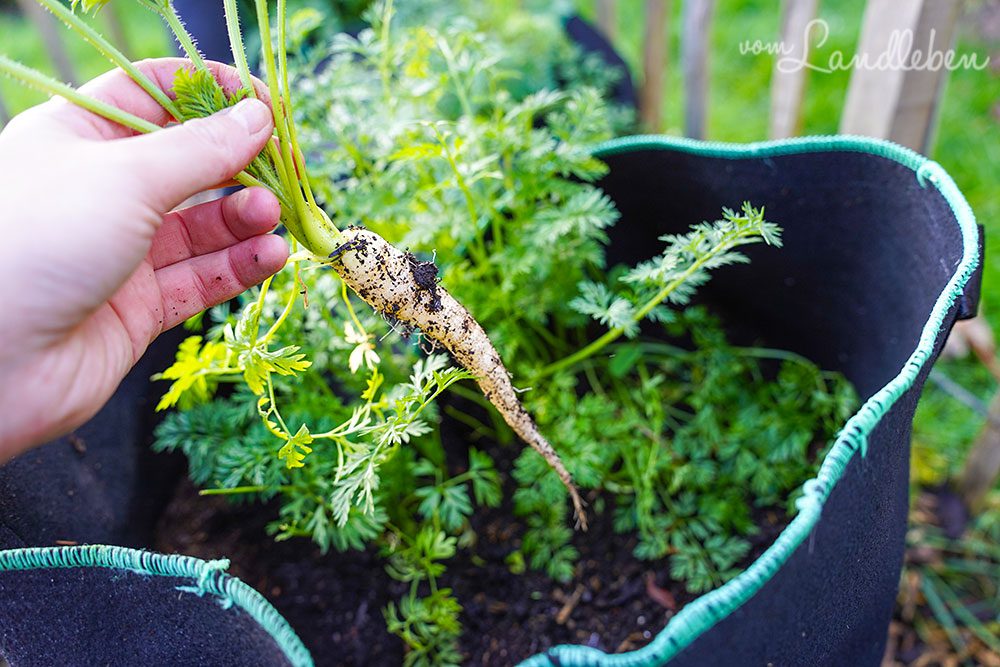
M708 53L715 0L684 0L681 63L684 70L684 134L705 138L708 115Z

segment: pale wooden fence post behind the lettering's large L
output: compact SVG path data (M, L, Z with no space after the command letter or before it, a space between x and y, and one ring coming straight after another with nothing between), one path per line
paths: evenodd
M782 59L805 62L809 57L806 31L816 18L819 0L784 0L781 8L782 53L775 57L771 75L771 138L785 139L799 134L802 126L802 99L808 68L781 67Z

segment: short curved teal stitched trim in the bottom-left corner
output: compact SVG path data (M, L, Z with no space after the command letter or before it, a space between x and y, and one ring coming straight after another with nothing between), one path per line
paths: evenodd
M281 649L294 667L312 667L312 656L292 626L264 596L223 570L229 561L203 561L191 556L168 556L125 547L87 545L38 547L0 551L0 572L66 567L129 570L156 577L193 579L195 586L179 587L197 595L218 596L224 609L235 605L249 614Z

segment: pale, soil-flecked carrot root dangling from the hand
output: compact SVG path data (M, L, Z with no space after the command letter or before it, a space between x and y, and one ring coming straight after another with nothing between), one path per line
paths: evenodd
M351 227L344 230L343 237L344 245L331 257L348 287L375 310L420 329L475 376L483 395L507 425L555 470L569 491L577 526L586 530L587 515L573 478L521 405L486 331L465 306L437 284L437 268L430 262L418 262L367 229Z

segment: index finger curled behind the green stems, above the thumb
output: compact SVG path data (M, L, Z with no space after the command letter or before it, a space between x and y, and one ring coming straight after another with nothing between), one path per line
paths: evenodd
M226 94L232 94L243 87L235 67L212 60L205 61L205 65ZM175 99L173 85L177 71L194 67L187 58L153 58L137 62L135 66L171 99ZM269 104L267 85L256 77L253 79L253 85L257 97ZM81 86L79 90L85 95L107 102L156 125L163 126L178 120L171 117L149 93L119 68L102 74ZM39 110L55 115L64 122L72 123L78 134L94 139L119 139L136 134L135 130L107 120L62 98L51 100L39 107Z

